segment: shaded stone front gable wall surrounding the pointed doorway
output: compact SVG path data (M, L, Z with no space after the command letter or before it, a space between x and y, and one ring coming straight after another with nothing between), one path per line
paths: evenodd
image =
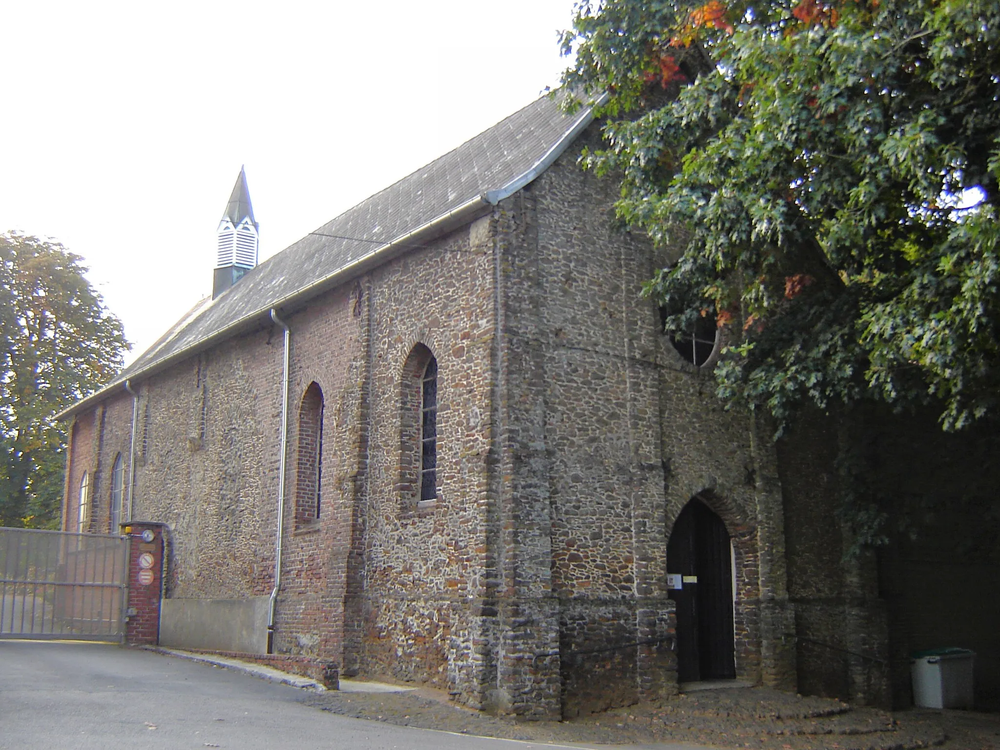
M518 519L501 545L518 551L506 590L534 628L536 667L541 624L558 613L564 714L672 694L666 545L698 495L735 547L738 675L794 687L773 447L662 335L639 297L654 253L614 228L613 182L576 164L584 142L502 205L508 434L519 438L502 443ZM537 702L547 678L533 679Z

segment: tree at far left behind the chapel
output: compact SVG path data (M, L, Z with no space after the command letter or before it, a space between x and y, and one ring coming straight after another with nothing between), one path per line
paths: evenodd
M0 235L0 526L58 525L65 425L55 415L121 369L121 322L62 245Z

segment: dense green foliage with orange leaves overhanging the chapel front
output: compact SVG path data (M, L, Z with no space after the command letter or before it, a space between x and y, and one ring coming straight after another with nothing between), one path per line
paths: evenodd
M996 415L1000 4L584 1L574 26L564 82L611 93L585 163L677 256L646 287L668 331L725 326L721 397Z

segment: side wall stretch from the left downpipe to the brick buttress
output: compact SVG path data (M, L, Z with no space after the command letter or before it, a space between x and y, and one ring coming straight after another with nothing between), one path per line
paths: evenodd
M286 316L291 328L282 586L272 648L338 664L355 505L360 286ZM143 383L135 514L171 529L167 596L240 598L274 585L283 334L268 325ZM320 517L297 523L298 412L325 399Z

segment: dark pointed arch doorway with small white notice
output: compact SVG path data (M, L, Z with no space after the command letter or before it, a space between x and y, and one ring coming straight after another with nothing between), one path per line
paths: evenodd
M667 570L677 615L678 680L735 678L733 547L722 519L697 497L674 523Z

